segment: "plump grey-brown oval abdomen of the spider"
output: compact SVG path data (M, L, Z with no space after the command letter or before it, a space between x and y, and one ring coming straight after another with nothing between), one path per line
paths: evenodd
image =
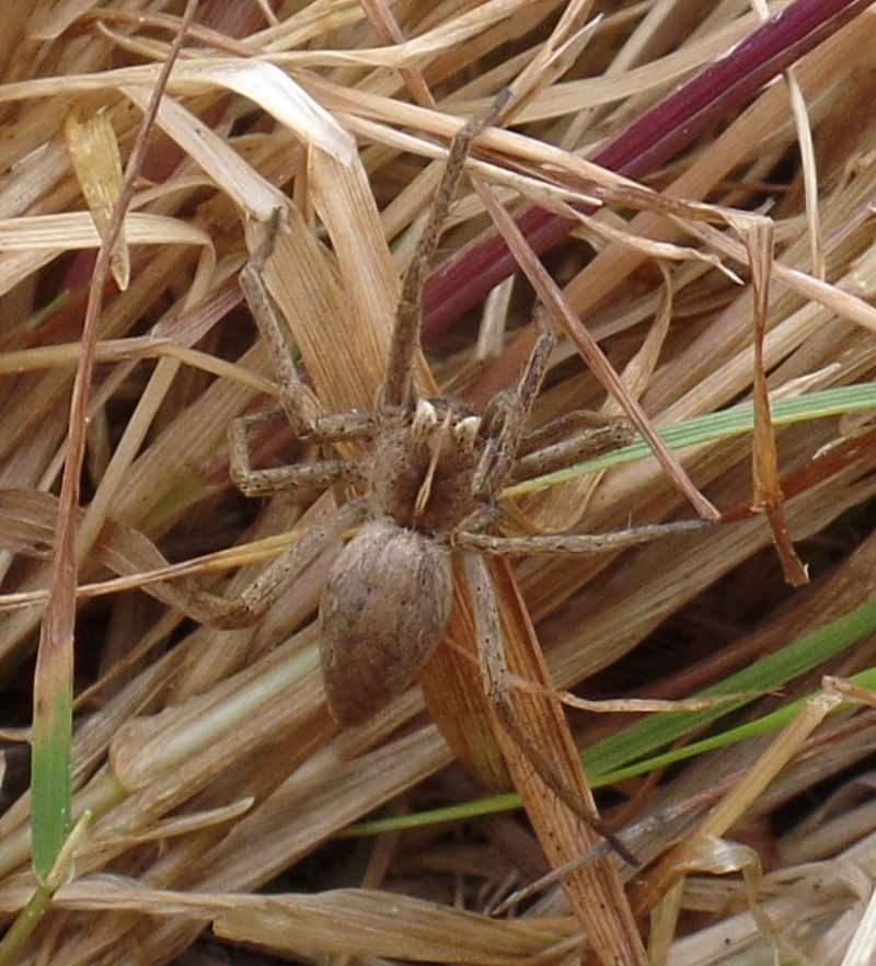
M333 717L367 721L417 676L453 603L449 549L388 520L342 550L320 602L320 660Z

